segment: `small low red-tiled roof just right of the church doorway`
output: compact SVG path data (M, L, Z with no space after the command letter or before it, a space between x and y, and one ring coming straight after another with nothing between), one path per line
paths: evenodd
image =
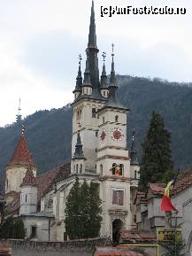
M150 231L143 231L137 229L122 230L120 238L123 242L157 242L157 238Z

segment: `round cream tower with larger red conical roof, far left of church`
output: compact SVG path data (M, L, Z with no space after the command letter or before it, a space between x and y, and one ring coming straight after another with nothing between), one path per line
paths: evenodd
M12 159L5 168L5 193L11 191L20 191L20 184L26 175L27 167L33 168L34 175L36 176L36 167L32 158L31 152L28 150L27 140L25 137L25 128L22 126L22 133L19 138Z

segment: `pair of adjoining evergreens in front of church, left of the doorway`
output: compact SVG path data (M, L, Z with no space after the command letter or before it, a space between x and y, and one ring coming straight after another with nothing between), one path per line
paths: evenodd
M79 179L73 184L65 207L65 229L70 239L98 237L102 217L96 185Z

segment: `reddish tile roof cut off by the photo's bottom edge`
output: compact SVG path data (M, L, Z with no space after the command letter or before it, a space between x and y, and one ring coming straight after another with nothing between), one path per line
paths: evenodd
M127 248L118 247L96 247L94 256L143 256L140 252L130 251Z

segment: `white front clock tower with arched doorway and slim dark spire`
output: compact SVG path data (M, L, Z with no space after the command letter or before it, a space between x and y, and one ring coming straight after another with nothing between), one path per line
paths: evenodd
M112 48L113 48L112 44ZM130 227L130 161L127 151L127 112L117 96L112 50L109 98L98 112L96 172L103 200L102 236L116 241L119 229Z

